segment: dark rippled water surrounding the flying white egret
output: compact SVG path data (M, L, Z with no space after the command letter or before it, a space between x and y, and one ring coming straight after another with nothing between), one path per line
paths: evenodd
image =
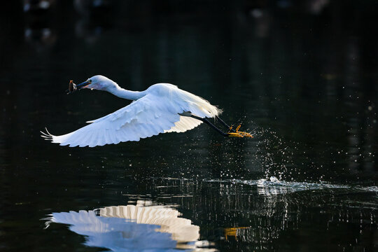
M45 228L52 213L137 201L198 226L197 249L377 250L377 3L360 2L55 1L24 13L14 1L0 30L0 250L173 251L119 218L93 217L118 238L132 227L122 234L139 234L135 246ZM255 138L201 125L100 148L43 141L45 126L64 134L127 104L64 93L95 74L130 90L174 83Z

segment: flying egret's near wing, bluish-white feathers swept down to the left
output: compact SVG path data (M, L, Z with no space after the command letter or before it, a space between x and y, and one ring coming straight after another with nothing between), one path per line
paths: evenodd
M94 147L118 144L121 141L139 141L175 127L175 123L180 122L179 113L182 112L183 109L171 106L164 97L147 94L123 109L88 122L90 125L74 132L61 136L47 132L43 137L52 143L70 147ZM186 127L193 128L193 123Z

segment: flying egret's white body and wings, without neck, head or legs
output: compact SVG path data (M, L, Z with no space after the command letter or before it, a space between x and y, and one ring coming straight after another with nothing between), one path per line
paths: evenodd
M42 132L42 137L61 146L104 146L121 141L139 141L165 132L186 132L202 123L179 115L185 111L202 118L213 117L220 112L204 99L174 85L151 87L146 96L108 116L88 122L90 125L61 136Z

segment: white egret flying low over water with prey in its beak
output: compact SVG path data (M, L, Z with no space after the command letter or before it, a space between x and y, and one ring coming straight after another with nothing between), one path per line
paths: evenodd
M121 88L105 76L97 75L75 85L70 82L69 92L81 89L103 90L117 97L133 100L130 105L97 120L91 120L69 134L55 136L41 132L47 140L61 146L104 146L125 141L139 141L166 132L186 132L201 123L207 123L225 137L252 137L246 132L233 130L218 118L221 110L195 94L179 89L172 84L158 83L144 91L130 91ZM209 122L216 118L228 132L223 132Z

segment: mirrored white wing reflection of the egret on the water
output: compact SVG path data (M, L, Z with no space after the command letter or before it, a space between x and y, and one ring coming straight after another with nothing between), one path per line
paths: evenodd
M198 241L200 227L180 215L175 209L138 201L137 205L53 213L47 219L46 227L50 223L68 224L71 231L87 236L85 245L111 251L210 251L198 248L207 244Z

